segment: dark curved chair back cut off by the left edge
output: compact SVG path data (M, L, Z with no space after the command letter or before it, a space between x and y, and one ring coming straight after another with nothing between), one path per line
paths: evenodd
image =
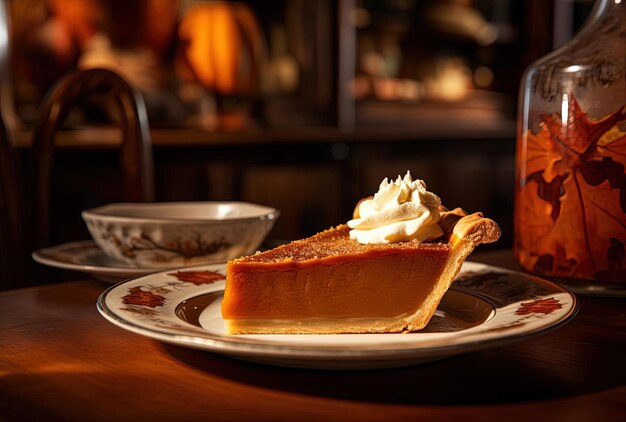
M18 287L26 274L20 166L0 113L0 290Z

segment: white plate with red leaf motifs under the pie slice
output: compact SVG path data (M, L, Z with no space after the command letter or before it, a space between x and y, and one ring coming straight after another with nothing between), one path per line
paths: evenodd
M412 365L545 333L577 311L574 295L541 278L466 262L428 326L404 334L228 335L220 313L223 264L125 281L98 299L135 333L261 363L367 369Z

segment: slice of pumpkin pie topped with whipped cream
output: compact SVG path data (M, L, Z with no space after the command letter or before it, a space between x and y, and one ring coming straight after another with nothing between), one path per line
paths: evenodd
M385 179L348 224L230 261L222 316L231 334L420 330L472 250L499 236L409 173Z

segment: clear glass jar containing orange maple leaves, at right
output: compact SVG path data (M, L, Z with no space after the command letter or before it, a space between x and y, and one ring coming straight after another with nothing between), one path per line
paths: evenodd
M626 294L626 0L525 72L514 252L581 293Z

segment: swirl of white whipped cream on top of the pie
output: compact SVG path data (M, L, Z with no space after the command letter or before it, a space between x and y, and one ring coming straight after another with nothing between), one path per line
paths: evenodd
M385 178L374 198L359 204L359 218L348 221L350 238L359 243L435 240L443 235L440 205L441 199L408 171L394 182Z

